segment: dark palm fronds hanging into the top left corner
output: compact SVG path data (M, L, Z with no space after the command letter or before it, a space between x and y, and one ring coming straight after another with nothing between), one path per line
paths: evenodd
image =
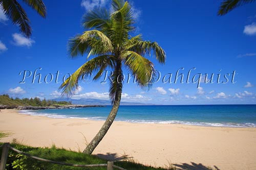
M23 0L40 16L46 17L46 6L42 0ZM0 10L11 18L13 25L18 25L19 31L27 37L31 36L30 20L25 10L16 0L0 0Z

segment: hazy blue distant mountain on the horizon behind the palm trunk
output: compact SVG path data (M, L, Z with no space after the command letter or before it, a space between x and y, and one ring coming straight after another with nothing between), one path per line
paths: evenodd
M67 101L72 102L74 105L111 105L109 100L100 99L70 99L70 98L57 98L54 101ZM120 105L152 105L145 103L135 103L135 102L121 102Z

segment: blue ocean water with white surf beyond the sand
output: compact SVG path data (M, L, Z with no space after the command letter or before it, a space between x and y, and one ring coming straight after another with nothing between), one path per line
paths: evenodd
M52 118L105 120L111 106L25 110L22 114ZM116 121L221 127L256 127L256 105L120 106Z

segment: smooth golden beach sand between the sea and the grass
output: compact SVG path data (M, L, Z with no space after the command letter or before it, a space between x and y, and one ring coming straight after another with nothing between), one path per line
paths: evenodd
M33 147L63 147L83 150L84 136L90 142L102 121L48 118L0 112L0 130ZM82 135L82 134L83 135ZM122 156L147 165L188 169L256 169L256 128L200 127L176 124L133 124L114 122L93 154L108 159Z

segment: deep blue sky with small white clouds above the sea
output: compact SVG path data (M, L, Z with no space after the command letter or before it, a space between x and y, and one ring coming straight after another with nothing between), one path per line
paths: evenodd
M18 28L0 12L0 93L9 93L20 98L38 96L53 99L58 97L60 83L34 83L33 75L23 79L23 70L37 68L44 80L47 74L72 74L87 61L86 57L71 59L67 53L70 37L82 33L81 17L93 8L110 9L108 0L44 1L46 19L22 4L32 25L32 37L26 39ZM255 4L237 8L225 16L217 16L221 1L134 1L136 32L143 39L157 41L166 52L166 64L161 65L150 58L161 79L149 91L136 84L124 83L122 101L154 104L256 104L256 13ZM179 68L186 81L189 69L195 74L215 74L215 83L162 83L166 74L175 74ZM221 71L219 71L221 70ZM234 81L231 74L236 70ZM125 70L125 74L128 72ZM228 83L217 83L217 74ZM54 75L55 76L55 75ZM55 79L55 78L54 78ZM38 80L38 79L36 79ZM102 79L103 80L103 77ZM173 81L172 80L172 81ZM190 78L191 80L191 78ZM203 79L202 79L203 80ZM101 81L79 85L79 98L108 99L108 84Z

